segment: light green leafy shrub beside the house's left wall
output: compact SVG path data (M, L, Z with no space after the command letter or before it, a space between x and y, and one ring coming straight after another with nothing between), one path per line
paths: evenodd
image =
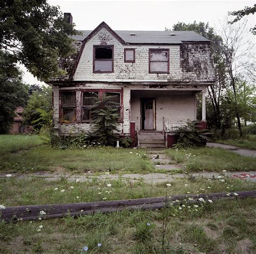
M51 87L42 87L42 91L34 91L24 109L24 124L39 131L43 126L50 126L52 119Z

